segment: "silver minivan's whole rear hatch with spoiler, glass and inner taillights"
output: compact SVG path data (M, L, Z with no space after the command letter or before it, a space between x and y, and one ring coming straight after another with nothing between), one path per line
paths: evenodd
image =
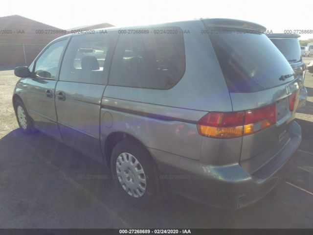
M289 62L258 24L203 20L231 97L244 112L240 164L253 173L290 140L299 85Z

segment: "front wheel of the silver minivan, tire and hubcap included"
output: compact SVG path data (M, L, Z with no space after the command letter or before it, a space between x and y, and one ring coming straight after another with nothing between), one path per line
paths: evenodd
M20 129L24 134L31 134L34 132L34 125L29 117L25 105L21 99L17 99L14 103L14 110L16 119L18 120Z

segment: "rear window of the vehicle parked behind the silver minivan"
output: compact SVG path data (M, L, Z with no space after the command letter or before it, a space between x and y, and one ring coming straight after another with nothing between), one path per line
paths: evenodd
M298 39L270 39L273 44L283 53L288 62L301 61L301 49Z

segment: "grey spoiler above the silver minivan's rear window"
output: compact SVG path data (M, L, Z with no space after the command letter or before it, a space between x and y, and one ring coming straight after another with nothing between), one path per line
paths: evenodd
M266 27L261 24L255 24L248 21L232 20L232 19L201 19L206 28L225 28L259 31L264 33Z

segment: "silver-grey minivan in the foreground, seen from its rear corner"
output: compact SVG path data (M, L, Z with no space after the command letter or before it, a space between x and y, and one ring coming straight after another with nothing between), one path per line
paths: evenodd
M201 19L62 36L15 69L17 120L107 165L138 207L167 190L244 207L301 141L300 81L265 30Z

